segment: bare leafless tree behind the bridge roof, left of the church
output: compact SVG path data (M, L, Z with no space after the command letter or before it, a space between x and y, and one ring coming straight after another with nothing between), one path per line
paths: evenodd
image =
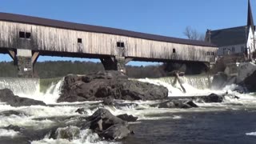
M192 39L192 40L204 41L204 39L205 39L205 34L199 33L198 30L191 28L191 26L186 26L186 29L183 32L183 34L187 38Z

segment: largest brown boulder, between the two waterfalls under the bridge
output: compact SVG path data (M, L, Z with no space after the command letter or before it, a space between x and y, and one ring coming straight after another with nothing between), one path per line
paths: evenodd
M118 71L100 71L86 76L64 78L58 102L82 102L114 98L123 100L156 100L167 98L168 90L146 82L129 80Z

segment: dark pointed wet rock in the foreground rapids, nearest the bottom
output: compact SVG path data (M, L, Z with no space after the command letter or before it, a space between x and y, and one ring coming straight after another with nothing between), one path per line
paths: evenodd
M106 109L96 110L86 120L90 123L90 129L105 139L121 139L131 133L126 121L114 116Z

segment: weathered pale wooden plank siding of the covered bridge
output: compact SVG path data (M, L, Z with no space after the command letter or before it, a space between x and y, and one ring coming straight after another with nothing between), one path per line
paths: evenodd
M19 38L20 31L30 33L31 37ZM78 38L82 38L82 43L78 43ZM124 42L124 56L130 58L208 62L210 56L207 52L216 54L217 51L217 47L212 46L158 42L115 34L0 21L0 49L2 47L121 56L117 42Z

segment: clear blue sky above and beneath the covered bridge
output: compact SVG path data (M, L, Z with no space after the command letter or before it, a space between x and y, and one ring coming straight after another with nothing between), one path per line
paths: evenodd
M255 0L251 7L255 15ZM201 33L245 26L247 0L1 0L0 11L186 38L186 26Z

